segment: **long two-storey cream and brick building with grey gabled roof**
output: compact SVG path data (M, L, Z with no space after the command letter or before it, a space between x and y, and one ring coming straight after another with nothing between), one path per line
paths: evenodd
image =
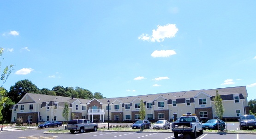
M249 113L245 86L92 100L26 93L12 107L12 122L17 118L22 118L23 122L65 121L62 116L65 103L76 119L107 122L109 115L111 122L135 122L140 119L141 99L146 110L145 119L148 120L175 121L187 113L195 113L201 120L207 120L217 118L213 101L216 90L225 108L223 118L236 120L240 115Z

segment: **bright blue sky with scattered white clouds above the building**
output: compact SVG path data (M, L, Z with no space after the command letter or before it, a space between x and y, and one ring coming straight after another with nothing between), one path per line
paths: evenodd
M256 0L1 0L9 90L104 97L246 86L256 98Z

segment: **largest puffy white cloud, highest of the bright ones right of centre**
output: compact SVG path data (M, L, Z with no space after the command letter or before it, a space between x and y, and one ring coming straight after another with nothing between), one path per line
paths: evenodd
M175 24L166 24L165 26L157 25L158 29L153 29L152 36L147 34L142 34L138 37L139 40L143 41L152 41L152 42L161 42L164 41L165 38L173 38L178 32L178 28L176 28Z

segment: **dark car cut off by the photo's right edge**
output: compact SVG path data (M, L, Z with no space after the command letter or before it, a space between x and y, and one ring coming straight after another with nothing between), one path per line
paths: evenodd
M238 121L240 130L243 130L245 128L256 129L256 118L254 115L241 116L241 118L238 119Z

